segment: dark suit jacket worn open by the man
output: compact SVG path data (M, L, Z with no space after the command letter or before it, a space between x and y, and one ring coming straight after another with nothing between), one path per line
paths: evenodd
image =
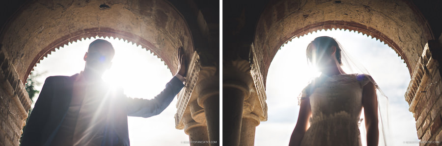
M46 78L40 95L24 130L21 146L49 146L63 122L72 98L73 82L78 73L72 76L50 76ZM115 145L116 141L129 146L127 116L151 117L160 114L184 87L173 77L166 88L153 99L129 98L122 89L107 88L111 94L106 98L108 112L105 128L105 146ZM116 140L116 141L115 141ZM111 144L113 143L113 144Z

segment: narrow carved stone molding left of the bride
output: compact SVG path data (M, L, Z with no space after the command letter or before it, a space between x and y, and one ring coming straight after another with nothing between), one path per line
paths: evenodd
M253 44L250 45L250 61L251 61L251 70L250 74L253 78L254 87L256 90L256 94L258 96L259 102L262 108L262 116L260 117L261 121L267 121L267 95L266 88L264 85L264 78L261 73L261 69L259 63L257 61L258 57L261 57L260 53L255 51Z

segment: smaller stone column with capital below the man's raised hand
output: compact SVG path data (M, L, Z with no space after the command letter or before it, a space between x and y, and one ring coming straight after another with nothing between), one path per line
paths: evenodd
M189 135L189 141L209 141L206 124L193 120L190 113L182 117L184 123L184 132ZM190 146L209 146L207 143L190 143Z

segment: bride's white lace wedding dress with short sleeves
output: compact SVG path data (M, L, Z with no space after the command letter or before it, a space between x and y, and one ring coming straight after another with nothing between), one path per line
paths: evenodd
M374 83L371 76L337 74L315 80L312 92L304 88L300 95L310 98L312 112L301 146L362 146L359 132L362 88L369 81Z

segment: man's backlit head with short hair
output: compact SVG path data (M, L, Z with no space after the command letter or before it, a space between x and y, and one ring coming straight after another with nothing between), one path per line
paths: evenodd
M88 76L101 77L107 69L111 68L114 54L115 50L110 42L102 39L93 41L83 57L86 61L84 72Z

